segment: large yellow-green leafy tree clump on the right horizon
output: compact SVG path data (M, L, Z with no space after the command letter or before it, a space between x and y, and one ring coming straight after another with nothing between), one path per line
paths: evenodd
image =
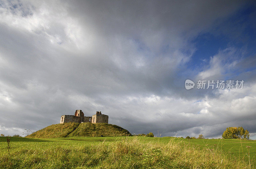
M228 127L222 134L222 138L242 138L249 139L250 134L248 130L244 130L243 127Z

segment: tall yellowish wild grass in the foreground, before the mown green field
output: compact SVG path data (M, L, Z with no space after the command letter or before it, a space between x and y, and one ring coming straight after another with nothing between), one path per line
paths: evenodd
M100 144L20 148L1 152L0 168L244 168L215 150L200 150L180 140L143 143L139 137ZM1 150L3 151L3 150Z

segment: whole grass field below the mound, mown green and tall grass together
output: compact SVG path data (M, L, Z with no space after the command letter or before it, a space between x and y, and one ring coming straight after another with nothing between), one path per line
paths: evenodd
M256 141L237 139L11 137L10 144L9 155L0 137L0 168L250 168L249 150L256 168Z

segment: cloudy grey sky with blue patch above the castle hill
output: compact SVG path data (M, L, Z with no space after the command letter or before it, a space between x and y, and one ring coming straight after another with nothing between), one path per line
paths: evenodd
M243 126L256 139L255 18L253 1L0 0L0 133L82 109L131 133L216 138Z

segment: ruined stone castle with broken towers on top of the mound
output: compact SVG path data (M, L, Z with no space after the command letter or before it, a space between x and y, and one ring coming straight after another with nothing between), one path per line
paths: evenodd
M101 111L96 111L96 115L84 116L82 110L76 110L74 115L62 115L60 124L75 122L75 123L108 123L108 116L101 114Z

